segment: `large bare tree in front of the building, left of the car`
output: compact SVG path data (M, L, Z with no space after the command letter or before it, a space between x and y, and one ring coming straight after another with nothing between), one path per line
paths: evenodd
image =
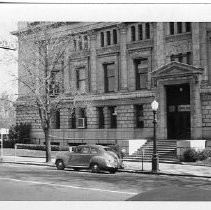
M70 110L82 105L90 111L91 101L82 89L64 88L62 72L69 65L67 51L72 35L67 36L44 22L37 27L28 26L16 35L19 42L17 105L37 111L46 143L46 162L50 162L50 129L54 113L67 102Z

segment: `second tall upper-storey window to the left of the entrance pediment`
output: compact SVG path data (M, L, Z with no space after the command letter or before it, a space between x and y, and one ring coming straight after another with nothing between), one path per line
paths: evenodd
M114 92L115 89L115 65L112 64L105 64L104 65L105 71L105 92Z

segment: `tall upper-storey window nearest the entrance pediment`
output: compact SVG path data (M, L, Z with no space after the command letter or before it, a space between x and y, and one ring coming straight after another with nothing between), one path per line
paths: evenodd
M148 82L148 59L135 60L136 90L146 89Z

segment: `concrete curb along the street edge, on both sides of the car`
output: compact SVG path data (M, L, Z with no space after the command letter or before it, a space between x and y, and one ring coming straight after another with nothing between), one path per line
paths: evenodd
M53 163L52 164L47 164L47 163L35 163L35 162L10 162L10 161L3 161L1 163L55 167L55 165ZM195 177L195 178L211 179L211 176L202 176L202 175L194 175L194 174L176 174L176 173L174 174L174 173L168 173L168 172L154 173L154 172L151 172L151 171L142 171L142 170L133 170L133 169L119 169L118 172L136 173L136 174L149 174L149 175L181 176L181 177L193 177L193 178Z

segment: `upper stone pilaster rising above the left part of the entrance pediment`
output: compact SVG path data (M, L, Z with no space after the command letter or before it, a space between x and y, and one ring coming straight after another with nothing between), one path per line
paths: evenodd
M165 64L166 60L164 23L161 22L155 23L154 47L155 47L155 68L158 69Z

